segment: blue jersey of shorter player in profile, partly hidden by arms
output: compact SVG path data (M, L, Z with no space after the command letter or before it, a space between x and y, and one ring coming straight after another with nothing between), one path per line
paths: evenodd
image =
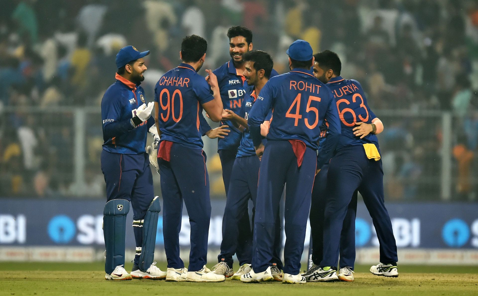
M244 95L242 106L239 110L238 115L247 120L250 113L250 109L252 108L252 105L254 105L254 102L256 101L256 99L257 99L257 94L256 94L254 86L248 86L246 88L246 95ZM265 120L270 120L271 116L272 116L272 112L269 112ZM262 140L262 142L264 143L265 139ZM252 138L250 137L249 130L244 130L244 132L242 133L236 158L245 157L245 156L256 156L256 149L254 148L254 144L252 143Z

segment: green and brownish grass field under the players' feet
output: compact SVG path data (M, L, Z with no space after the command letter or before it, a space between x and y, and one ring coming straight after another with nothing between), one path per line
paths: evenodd
M165 270L165 263L158 266ZM0 262L0 295L478 295L478 266L399 265L398 278L384 278L370 274L370 266L359 265L355 282L305 285L244 284L229 279L222 283L115 282L104 279L103 267L99 262Z

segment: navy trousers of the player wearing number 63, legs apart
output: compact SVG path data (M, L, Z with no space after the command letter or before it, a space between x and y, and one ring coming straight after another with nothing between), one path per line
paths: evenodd
M358 190L380 242L380 262L396 263L397 245L390 216L384 203L382 161L367 159L363 146L337 151L327 174L327 202L324 215L324 258L321 267L337 266L342 225L354 192Z

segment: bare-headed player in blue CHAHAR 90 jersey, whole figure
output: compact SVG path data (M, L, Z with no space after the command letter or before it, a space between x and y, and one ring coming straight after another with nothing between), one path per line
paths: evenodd
M197 71L204 64L207 42L197 35L186 36L179 56L183 63L166 72L155 87L155 121L161 137L158 165L163 193L163 237L168 261L166 281L220 282L206 268L207 237L211 219L206 154L202 150L202 111L219 122L222 101L216 75L208 82ZM208 85L209 83L209 85ZM183 201L191 224L189 266L179 257L179 232Z

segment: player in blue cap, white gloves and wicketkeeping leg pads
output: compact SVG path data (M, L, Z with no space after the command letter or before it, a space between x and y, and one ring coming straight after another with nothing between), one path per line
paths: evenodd
M152 174L145 151L148 129L153 126L153 103L146 105L144 57L133 46L123 47L116 55L116 82L101 100L103 150L101 170L106 181L108 202L104 209L103 232L106 245L105 278L163 279L166 273L156 267L154 246L159 200L154 197ZM133 208L136 256L131 274L124 269L126 214Z

